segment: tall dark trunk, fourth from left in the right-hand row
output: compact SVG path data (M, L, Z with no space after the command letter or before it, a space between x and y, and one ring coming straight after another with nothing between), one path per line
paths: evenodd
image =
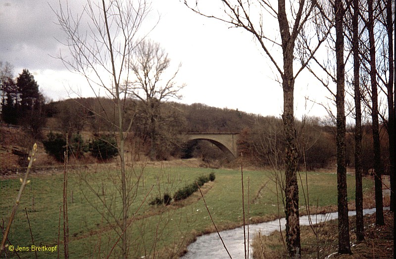
M376 62L375 62L375 40L374 40L374 12L373 0L368 0L368 33L369 33L369 51L370 51L370 79L371 79L371 102L372 102L372 130L373 130L373 150L374 150L374 185L375 185L375 209L376 224L384 224L384 212L382 202L382 181L383 166L381 162L381 143L378 125L378 92L376 79Z

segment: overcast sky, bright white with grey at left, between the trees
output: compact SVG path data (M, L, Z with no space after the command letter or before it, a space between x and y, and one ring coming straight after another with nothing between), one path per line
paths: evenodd
M70 6L80 12L83 2L69 0ZM56 9L58 0L0 0L0 61L14 66L14 76L28 69L49 99L68 98L70 87L92 96L84 80L52 57L61 48L56 39L62 40L64 35L49 5ZM282 88L250 34L201 17L179 0L153 0L148 25L158 15L159 22L148 37L161 43L175 67L182 63L176 80L187 86L178 102L263 116L282 114ZM321 102L325 95L322 86L302 73L296 82L296 116L327 115L321 106L305 102L307 96Z

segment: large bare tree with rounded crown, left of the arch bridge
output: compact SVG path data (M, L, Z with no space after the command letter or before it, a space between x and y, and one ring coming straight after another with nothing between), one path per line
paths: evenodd
M180 90L185 85L177 85L174 81L181 64L173 74L169 75L167 80L164 80L164 77L168 76L171 60L159 43L150 40L143 40L137 46L133 57L129 66L134 78L127 85L127 92L143 103L150 137L149 156L151 160L154 160L156 158L160 102L169 98L181 98Z

